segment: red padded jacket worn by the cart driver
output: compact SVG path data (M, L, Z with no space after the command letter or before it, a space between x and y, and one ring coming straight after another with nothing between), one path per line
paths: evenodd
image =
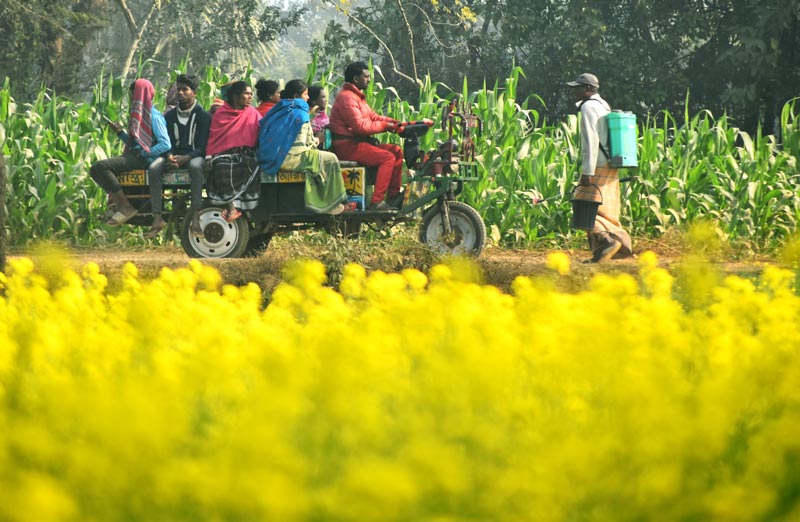
M395 120L381 116L367 104L361 90L352 83L345 83L331 108L329 128L336 136L370 136L388 129Z

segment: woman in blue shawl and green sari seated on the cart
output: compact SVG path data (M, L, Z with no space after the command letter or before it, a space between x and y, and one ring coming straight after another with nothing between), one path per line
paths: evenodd
M292 80L281 91L281 101L261 119L258 158L270 175L279 170L304 172L305 205L312 212L341 214L347 200L342 169L331 152L317 149L311 130L308 86Z

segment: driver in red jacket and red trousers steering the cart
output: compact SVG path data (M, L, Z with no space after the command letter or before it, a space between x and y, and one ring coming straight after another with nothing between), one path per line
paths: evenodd
M378 167L375 191L368 209L400 208L403 204L403 194L400 192L403 150L397 145L377 143L371 138L373 134L394 130L398 122L375 113L367 104L363 92L370 82L367 64L354 62L348 65L344 70L344 81L331 108L333 152L340 160ZM385 196L387 201L383 200Z

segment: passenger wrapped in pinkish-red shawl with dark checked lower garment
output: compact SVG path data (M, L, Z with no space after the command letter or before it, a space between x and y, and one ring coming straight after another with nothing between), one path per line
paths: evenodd
M223 217L230 223L241 210L258 205L261 179L255 147L260 115L250 105L253 89L246 82L233 82L221 94L225 102L211 118L206 146L211 165L206 190L212 202L226 205Z

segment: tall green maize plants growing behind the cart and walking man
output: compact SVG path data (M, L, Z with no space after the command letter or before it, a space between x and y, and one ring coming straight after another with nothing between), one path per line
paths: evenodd
M242 77L254 76L247 70ZM318 70L312 62L307 76L332 93L337 88L331 67ZM578 169L577 118L546 121L535 108L541 99L517 98L523 77L517 67L493 86L475 86L464 79L459 92L444 97L438 93L447 89L426 79L417 106L380 81L370 86L367 96L373 107L400 120L436 120L445 100L467 99L484 129L477 144L481 179L466 186L462 199L478 209L499 245L563 244L574 237L569 192ZM206 68L198 89L201 103L208 106L228 79L218 69ZM157 106L163 107L166 88L157 89ZM100 78L88 103L42 90L32 103L18 104L5 82L0 90L0 143L7 156L11 246L36 239L75 245L141 241L137 229L109 229L98 222L105 195L88 176L93 162L121 150L101 114L123 121L124 93L121 80ZM782 143L760 131L745 133L724 115L687 110L677 116L663 111L639 122L640 167L623 174L635 177L623 190L622 211L623 223L634 236L658 237L670 227L711 220L726 239L761 250L778 246L796 231L796 100L782 109ZM422 145L433 147L440 132L429 133ZM384 139L399 142L394 135Z

